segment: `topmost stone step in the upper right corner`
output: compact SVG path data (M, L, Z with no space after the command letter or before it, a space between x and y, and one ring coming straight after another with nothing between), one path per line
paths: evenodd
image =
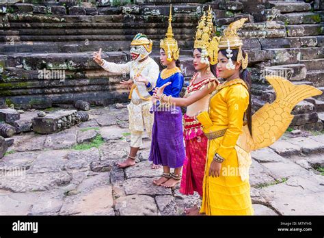
M311 10L312 6L310 3L303 2L277 2L269 1L264 3L267 8L275 8L280 10L281 13L288 12L308 12Z

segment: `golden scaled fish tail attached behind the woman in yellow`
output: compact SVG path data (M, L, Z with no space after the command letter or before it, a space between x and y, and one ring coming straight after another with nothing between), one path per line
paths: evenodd
M321 95L321 90L310 85L294 85L278 76L266 76L275 90L275 101L266 103L252 116L252 135L247 125L239 136L237 146L246 152L258 150L275 143L291 124L294 116L291 111L305 98Z

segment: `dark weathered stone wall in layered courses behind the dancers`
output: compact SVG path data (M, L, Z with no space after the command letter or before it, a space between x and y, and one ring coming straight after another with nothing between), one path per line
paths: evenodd
M10 2L10 1L8 1ZM137 32L154 41L167 28L170 1L43 1L0 4L0 104L43 108L81 99L96 105L127 101L121 77L102 70L92 52L103 49L112 62L129 60L129 43ZM265 83L269 72L284 73L294 83L324 86L322 0L304 1L171 1L175 38L186 79L193 74L192 48L202 10L210 5L217 29L249 18L239 34L249 53L253 75L253 106L271 102L275 94ZM323 96L299 103L292 125L321 130ZM323 119L323 118L322 118Z

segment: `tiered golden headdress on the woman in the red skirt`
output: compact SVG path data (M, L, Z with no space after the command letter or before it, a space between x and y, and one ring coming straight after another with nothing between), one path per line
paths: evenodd
M215 33L213 25L213 13L211 11L211 6L204 14L198 23L197 31L195 33L195 49L202 49L202 59L200 62L205 64L216 64L217 63L217 53L218 53L218 40L217 36L213 37ZM210 61L208 59L210 57Z

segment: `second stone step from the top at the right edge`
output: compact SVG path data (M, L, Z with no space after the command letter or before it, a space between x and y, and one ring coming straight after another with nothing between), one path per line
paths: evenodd
M283 21L287 25L316 24L321 23L321 14L316 12L293 12L280 14L276 20Z

